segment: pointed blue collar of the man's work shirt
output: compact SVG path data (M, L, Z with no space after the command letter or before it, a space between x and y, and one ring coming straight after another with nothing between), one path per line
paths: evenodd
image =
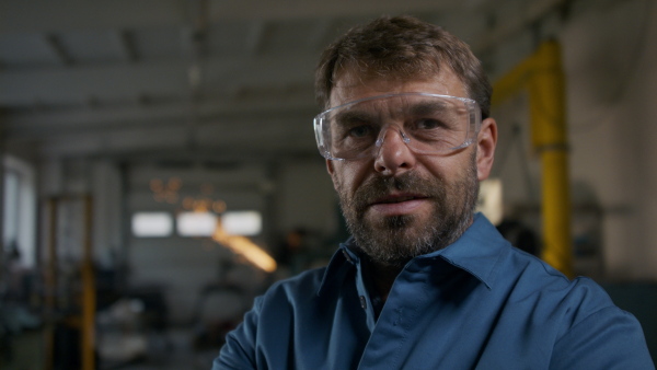
M354 253L354 238L349 238L339 245L339 250L328 263L318 294L322 294L331 285L330 280L342 278L345 271L360 263ZM351 246L351 248L349 248ZM469 273L482 281L488 289L493 288L497 276L498 261L503 256L508 242L499 234L495 227L482 213L474 216L474 221L463 235L454 243L440 251L418 256L410 264L425 258L442 258L449 264Z

